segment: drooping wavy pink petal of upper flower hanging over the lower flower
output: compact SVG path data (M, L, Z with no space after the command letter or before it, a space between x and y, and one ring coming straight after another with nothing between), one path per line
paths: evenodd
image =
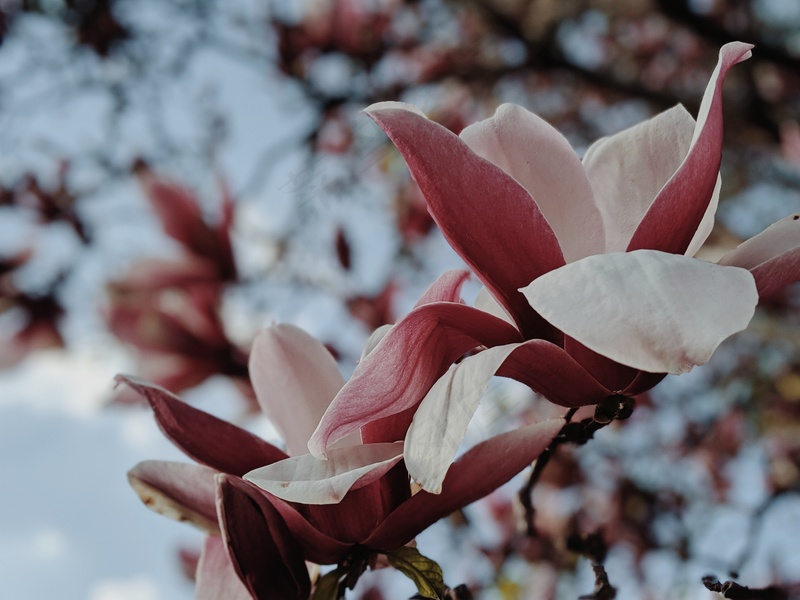
M435 302L412 310L356 367L350 381L334 398L308 448L317 457L351 431L378 419L413 410L430 386L466 351L479 345L522 341L508 323L463 304ZM410 423L407 413L405 425ZM374 432L362 430L365 443L391 442L388 424ZM378 438L378 439L376 439Z

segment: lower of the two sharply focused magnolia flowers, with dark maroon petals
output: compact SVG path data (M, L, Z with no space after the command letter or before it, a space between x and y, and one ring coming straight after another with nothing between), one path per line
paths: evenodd
M423 300L451 292L451 286L434 286ZM167 437L201 463L147 461L129 475L148 506L209 532L198 598L307 598L304 560L335 564L356 549L387 552L407 544L511 479L563 425L544 421L478 444L453 465L443 494L412 496L402 443L378 435L391 427L373 427L374 443L351 435L328 461L300 454L344 384L317 340L290 325L270 327L254 342L250 374L259 404L296 456L158 386L122 378L147 398ZM213 595L218 588L228 591Z

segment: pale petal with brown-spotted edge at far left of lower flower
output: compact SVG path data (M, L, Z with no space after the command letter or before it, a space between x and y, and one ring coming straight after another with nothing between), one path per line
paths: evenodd
M128 471L128 483L150 510L217 533L216 475L201 465L147 460Z

